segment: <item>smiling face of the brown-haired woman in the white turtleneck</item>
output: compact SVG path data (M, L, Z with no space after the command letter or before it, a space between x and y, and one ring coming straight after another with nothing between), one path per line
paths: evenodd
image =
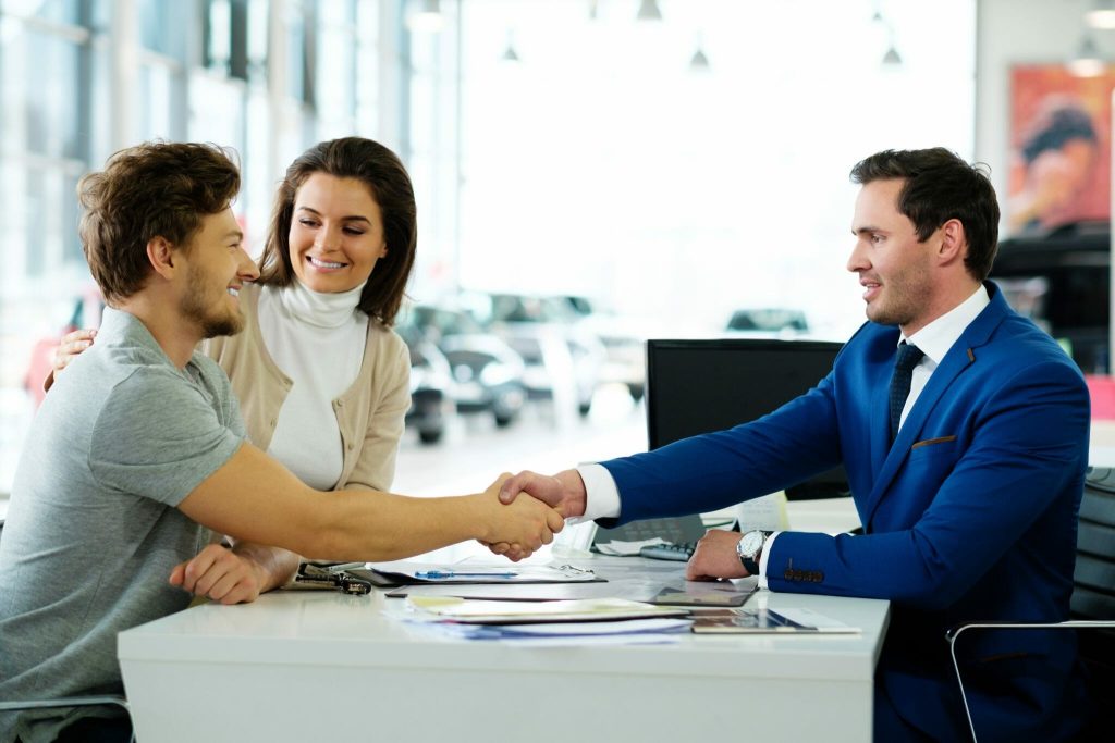
M347 292L360 286L387 255L379 204L356 178L314 173L294 195L290 262L308 289Z

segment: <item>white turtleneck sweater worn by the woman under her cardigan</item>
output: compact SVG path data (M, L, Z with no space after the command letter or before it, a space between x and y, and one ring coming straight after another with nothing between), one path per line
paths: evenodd
M341 476L341 432L333 400L360 373L368 315L356 309L363 284L322 294L295 281L264 286L260 333L271 358L293 384L279 412L268 453L302 482L330 490Z

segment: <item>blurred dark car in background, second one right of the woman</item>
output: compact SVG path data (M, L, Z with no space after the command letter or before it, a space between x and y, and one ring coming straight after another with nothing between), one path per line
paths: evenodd
M444 354L452 378L448 394L458 412L491 411L501 428L518 418L526 403L523 359L468 312L411 305L400 332L435 344Z

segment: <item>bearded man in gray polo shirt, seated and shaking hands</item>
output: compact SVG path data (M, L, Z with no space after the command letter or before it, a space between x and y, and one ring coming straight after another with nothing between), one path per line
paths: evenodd
M227 378L194 352L240 331L236 293L256 275L229 206L239 185L215 146L149 144L79 187L86 257L110 306L39 410L16 473L0 539L0 700L120 693L118 632L185 608L180 585L235 581L251 600L289 575L284 549L385 560L472 538L536 549L561 529L533 499L502 506L497 486L436 499L318 492L244 441ZM206 546L211 528L235 547ZM186 579L186 564L203 577ZM127 740L110 715L0 713L0 743Z

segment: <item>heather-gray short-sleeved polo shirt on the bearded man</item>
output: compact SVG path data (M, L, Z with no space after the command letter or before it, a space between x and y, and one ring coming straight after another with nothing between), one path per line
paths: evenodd
M0 700L122 693L116 635L184 609L171 569L209 541L176 506L240 448L224 372L185 370L106 310L36 414L0 536ZM0 713L0 743L54 740L107 708Z

